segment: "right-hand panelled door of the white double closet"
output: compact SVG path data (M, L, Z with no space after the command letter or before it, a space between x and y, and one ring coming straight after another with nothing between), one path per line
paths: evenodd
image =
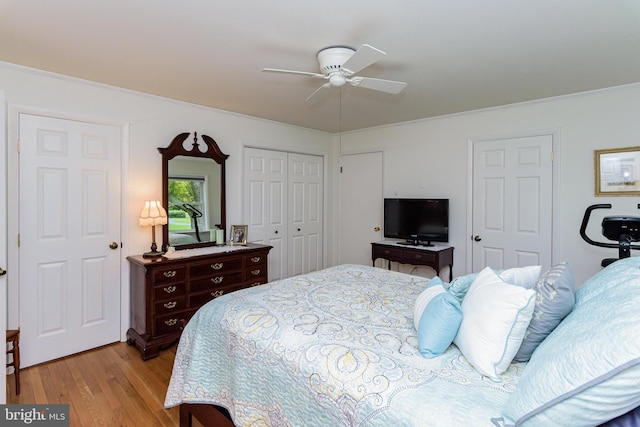
M322 268L323 160L289 154L289 276Z

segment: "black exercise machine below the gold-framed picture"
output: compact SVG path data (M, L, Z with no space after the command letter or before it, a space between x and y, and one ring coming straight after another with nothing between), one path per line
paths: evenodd
M606 267L614 261L631 256L631 249L640 249L640 245L632 245L632 242L640 241L640 218L632 216L606 216L602 219L602 235L617 243L596 242L587 236L587 224L591 212L596 209L611 209L611 204L601 203L589 206L582 217L580 236L590 245L601 248L618 248L618 258L605 258L600 265ZM640 209L640 204L638 204Z

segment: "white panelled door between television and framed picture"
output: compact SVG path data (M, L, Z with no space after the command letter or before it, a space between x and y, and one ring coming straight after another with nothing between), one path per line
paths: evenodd
M473 271L551 267L553 136L473 146Z

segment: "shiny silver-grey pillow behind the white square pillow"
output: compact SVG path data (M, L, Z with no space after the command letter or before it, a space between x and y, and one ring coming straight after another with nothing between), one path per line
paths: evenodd
M536 305L524 340L513 360L526 362L538 345L573 309L575 283L566 262L546 271L532 287L536 291Z

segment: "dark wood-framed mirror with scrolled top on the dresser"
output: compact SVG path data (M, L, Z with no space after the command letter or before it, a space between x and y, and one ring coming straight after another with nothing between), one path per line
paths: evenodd
M225 161L213 138L190 132L173 138L162 154L162 205L169 221L162 227L163 250L213 246L217 227L226 232ZM223 233L224 234L224 233Z

